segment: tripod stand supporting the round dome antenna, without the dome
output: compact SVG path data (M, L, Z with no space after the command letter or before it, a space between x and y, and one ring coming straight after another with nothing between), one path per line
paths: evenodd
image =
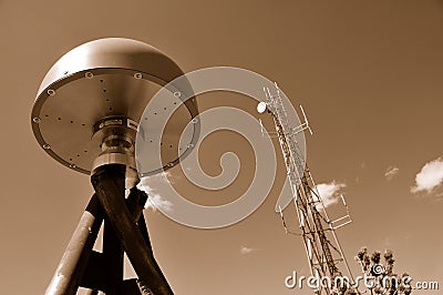
M172 295L151 247L143 215L146 193L137 187L125 199L122 164L99 167L91 176L92 196L63 257L47 288L48 295L76 294L79 287L106 295ZM103 252L93 251L104 221ZM123 252L126 252L140 279L123 279Z

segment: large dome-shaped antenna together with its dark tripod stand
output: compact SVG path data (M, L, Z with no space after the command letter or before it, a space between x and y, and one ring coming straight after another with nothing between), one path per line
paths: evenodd
M183 74L151 45L107 38L71 50L45 75L32 109L33 133L56 161L91 173L94 187L45 294L71 295L79 287L174 294L153 255L143 214L148 196L136 183L138 175L177 164L198 138L197 104ZM159 89L164 95L155 95ZM138 278L124 279L124 253Z

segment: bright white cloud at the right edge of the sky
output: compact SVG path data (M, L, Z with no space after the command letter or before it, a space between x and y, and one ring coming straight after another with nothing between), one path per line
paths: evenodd
M415 185L411 189L412 193L426 191L431 193L443 182L443 157L439 157L424 164L415 176Z

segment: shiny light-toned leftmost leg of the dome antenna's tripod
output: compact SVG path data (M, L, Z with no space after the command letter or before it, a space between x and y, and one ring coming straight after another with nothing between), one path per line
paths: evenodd
M47 288L47 295L72 295L76 293L102 221L102 208L96 194L94 194Z

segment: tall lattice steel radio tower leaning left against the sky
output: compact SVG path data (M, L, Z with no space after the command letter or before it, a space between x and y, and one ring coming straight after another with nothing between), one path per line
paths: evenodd
M280 90L277 84L275 84L275 88L274 94L269 88L264 89L267 100L266 106L272 114L276 134L285 157L287 177L290 183L300 235L305 244L311 275L320 278L329 277L333 283L337 277L343 276L342 266L344 266L344 271L350 278L349 283L353 285L352 274L334 232L336 228L351 222L349 212L347 216L339 220L331 221L329 218L324 203L317 190L296 139L296 135L305 130L308 130L312 134L305 111L300 106L305 122L299 126L291 126L281 100ZM344 203L344 199L342 200ZM288 232L281 207L280 216L284 221L285 230ZM341 222L341 224L337 225L338 222ZM315 292L328 295L343 294L349 288L346 284L343 284L344 286L331 285L332 287L320 286Z

